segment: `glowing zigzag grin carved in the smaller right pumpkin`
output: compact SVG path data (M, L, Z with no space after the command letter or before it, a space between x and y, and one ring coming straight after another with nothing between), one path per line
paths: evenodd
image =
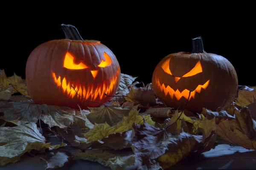
M193 90L189 96L189 90L188 89L184 89L182 92L179 91L179 89L177 89L176 91L174 89L172 89L169 85L165 86L164 84L160 84L160 81L158 78L155 78L157 86L159 89L161 89L162 92L164 92L164 94L167 96L168 94L170 95L171 98L173 98L173 96L175 96L177 98L177 100L180 100L181 97L184 97L186 99L189 98L189 100L191 98L195 98L195 92L200 93L201 89L206 89L207 86L209 85L210 80L208 80L204 85L198 85L195 90Z

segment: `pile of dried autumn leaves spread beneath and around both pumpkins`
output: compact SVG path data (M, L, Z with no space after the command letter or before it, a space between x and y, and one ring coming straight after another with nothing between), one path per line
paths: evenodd
M21 77L0 71L0 165L29 156L45 169L78 159L114 170L165 169L210 150L217 135L256 149L256 87L239 86L238 97L220 112L180 115L157 100L151 84L137 87L135 79L122 74L119 97L81 110L35 104ZM13 95L17 91L23 96ZM61 142L53 144L54 136Z

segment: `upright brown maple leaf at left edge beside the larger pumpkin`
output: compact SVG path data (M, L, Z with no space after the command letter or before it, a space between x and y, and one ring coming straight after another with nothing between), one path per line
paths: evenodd
M12 86L15 88L12 90L12 94L15 92L20 92L22 95L29 97L25 80L23 80L20 76L17 76L15 73L11 77L7 77L4 69L0 70L0 87L3 86L4 89L7 89L9 84L12 84Z

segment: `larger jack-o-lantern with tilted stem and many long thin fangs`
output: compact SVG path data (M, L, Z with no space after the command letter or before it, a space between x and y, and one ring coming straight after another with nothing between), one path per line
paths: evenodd
M116 56L98 40L83 40L76 27L64 24L61 27L65 39L43 43L29 55L26 63L29 95L37 104L71 108L79 105L87 109L106 103L111 99L108 95L115 95L120 83Z

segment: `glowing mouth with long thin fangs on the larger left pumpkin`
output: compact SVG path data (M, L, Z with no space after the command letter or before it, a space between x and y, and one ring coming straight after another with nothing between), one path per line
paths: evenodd
M116 82L118 79L119 71L117 71L116 75L113 75L113 78L110 78L108 80L105 80L102 84L87 84L85 86L81 85L74 85L71 84L65 77L58 76L56 77L55 73L52 72L52 78L55 82L55 84L61 88L62 92L69 96L70 98L79 98L80 100L84 100L83 98L95 101L97 98L102 100L103 98L106 98L107 96L104 95L105 93L107 95L111 94L113 89L116 87ZM73 87L71 87L71 85ZM79 95L76 94L76 92L81 95L83 98L81 98Z

